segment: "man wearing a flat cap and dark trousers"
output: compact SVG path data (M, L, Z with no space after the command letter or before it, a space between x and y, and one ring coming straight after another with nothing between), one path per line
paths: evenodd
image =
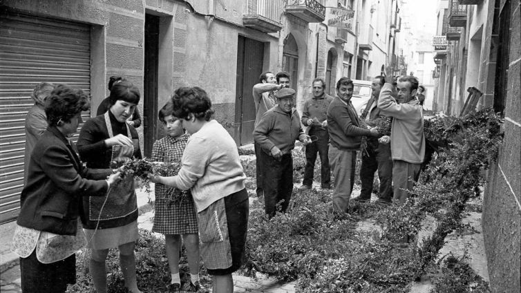
M276 205L281 205L282 212L290 205L295 140L310 143L309 136L302 130L299 113L294 108L295 91L282 88L275 97L278 104L260 118L254 129L255 142L262 149L264 205L269 218L275 216Z

